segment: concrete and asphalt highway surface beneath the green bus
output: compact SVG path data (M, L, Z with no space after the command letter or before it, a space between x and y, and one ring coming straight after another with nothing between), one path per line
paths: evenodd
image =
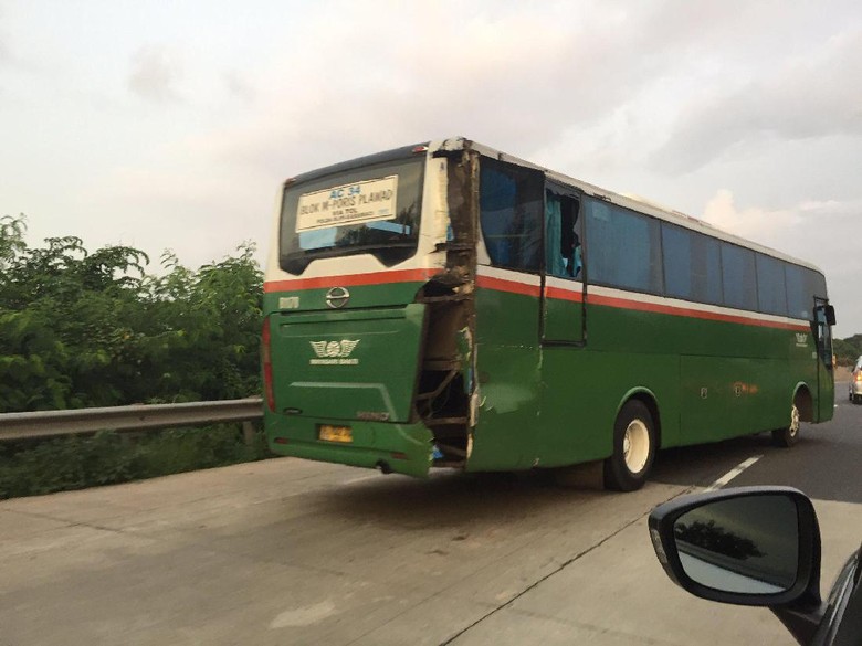
M646 515L738 484L813 495L823 583L859 547L862 406L805 430L660 455L642 490L273 459L0 501L0 646L791 644L768 611L671 583Z

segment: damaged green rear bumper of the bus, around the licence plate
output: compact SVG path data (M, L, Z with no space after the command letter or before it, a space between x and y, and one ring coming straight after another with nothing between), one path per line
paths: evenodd
M422 423L346 423L276 415L269 417L266 440L270 449L277 455L379 468L383 473L417 478L427 478L433 462L433 435ZM351 442L319 440L322 424L349 425Z

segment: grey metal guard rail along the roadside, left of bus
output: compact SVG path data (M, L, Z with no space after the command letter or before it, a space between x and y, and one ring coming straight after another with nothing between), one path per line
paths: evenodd
M104 409L38 411L0 414L0 442L29 437L51 437L96 431L169 428L197 424L243 422L245 441L251 441L249 422L263 416L261 398L181 404L135 404Z

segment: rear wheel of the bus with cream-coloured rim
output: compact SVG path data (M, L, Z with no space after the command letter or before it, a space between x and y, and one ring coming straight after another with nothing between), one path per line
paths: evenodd
M639 400L629 400L613 423L613 453L605 460L605 487L640 489L654 458L655 425L650 410Z

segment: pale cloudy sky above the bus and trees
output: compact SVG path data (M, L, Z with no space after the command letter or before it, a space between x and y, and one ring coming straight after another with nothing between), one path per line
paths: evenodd
M862 332L859 0L0 0L31 244L263 260L285 178L456 135L813 262Z

